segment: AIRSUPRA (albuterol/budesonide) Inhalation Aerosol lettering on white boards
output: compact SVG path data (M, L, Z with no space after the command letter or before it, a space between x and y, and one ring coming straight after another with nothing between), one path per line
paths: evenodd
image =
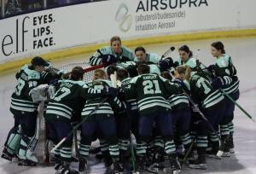
M180 27L188 8L208 7L207 0L141 0L137 3L135 31L170 31Z

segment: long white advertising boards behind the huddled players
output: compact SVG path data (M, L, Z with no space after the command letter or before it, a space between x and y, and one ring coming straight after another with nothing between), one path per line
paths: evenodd
M256 28L255 0L109 0L0 20L0 64L83 44Z

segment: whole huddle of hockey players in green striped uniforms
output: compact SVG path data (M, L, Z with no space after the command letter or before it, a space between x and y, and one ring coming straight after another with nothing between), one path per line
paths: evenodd
M234 101L239 98L230 55L221 42L211 44L216 62L210 66L195 59L187 45L178 53L177 60L147 53L143 47L133 53L113 37L110 46L90 57L90 66L105 67L97 68L90 82L83 81L82 67L63 73L34 57L16 74L10 107L15 125L2 158L18 157L19 165L38 163L31 148L37 138L40 101L35 102L35 96L48 98L44 119L47 139L56 146L56 173L90 171L88 157L96 151L91 148L96 140L96 158L102 159L108 173L180 173L183 164L207 169L207 157L230 157ZM74 170L72 131L77 124L81 138L79 167Z

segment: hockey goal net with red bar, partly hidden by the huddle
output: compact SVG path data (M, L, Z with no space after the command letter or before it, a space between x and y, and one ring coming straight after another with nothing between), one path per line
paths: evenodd
M83 67L84 68L84 81L89 82L93 77L93 73L96 69L104 67L104 65L100 66L90 66L89 61L81 61L81 62L73 62L65 65L61 65L55 67L59 70L64 70L66 72L71 72L73 67ZM38 144L35 148L34 154L38 157L39 164L47 165L49 164L50 154L49 151L51 150L53 144L46 138L47 128L45 126L44 121L44 102L41 102L38 107L38 117L39 117L39 136L38 136ZM73 149L73 151L75 151Z

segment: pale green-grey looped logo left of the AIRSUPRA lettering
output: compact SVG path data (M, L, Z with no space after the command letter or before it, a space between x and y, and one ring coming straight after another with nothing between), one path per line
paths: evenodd
M131 28L132 15L128 14L128 12L129 9L125 3L121 3L115 14L115 20L119 22L119 30L122 32L127 32Z

